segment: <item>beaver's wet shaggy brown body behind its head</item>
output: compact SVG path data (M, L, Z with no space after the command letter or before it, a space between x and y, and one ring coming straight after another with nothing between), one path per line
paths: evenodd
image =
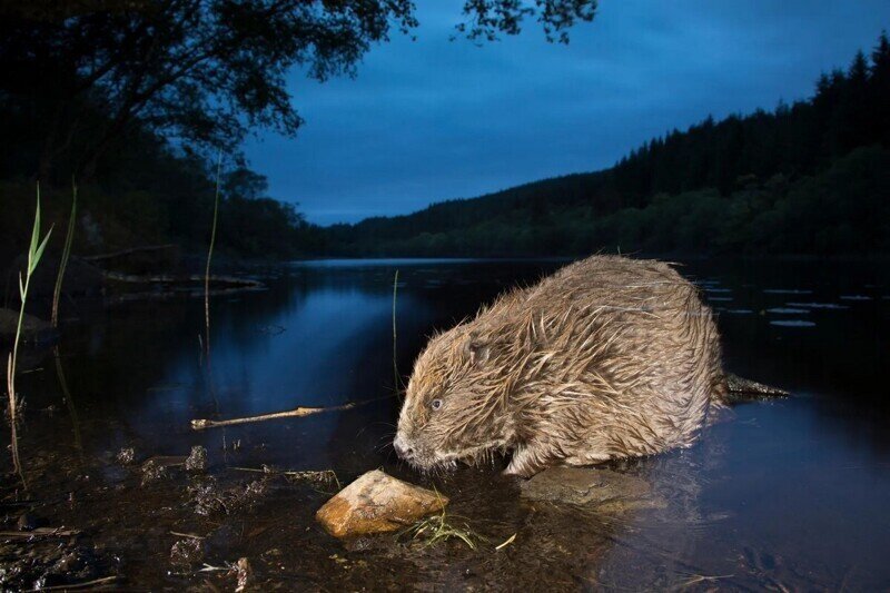
M710 309L666 264L594 256L472 322L512 335L516 473L691 443L725 391Z

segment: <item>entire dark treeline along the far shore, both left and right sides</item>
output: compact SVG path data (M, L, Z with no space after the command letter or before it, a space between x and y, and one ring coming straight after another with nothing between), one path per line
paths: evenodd
M20 87L14 78L0 80L3 270L28 244L51 116ZM108 116L91 97L78 99L79 117L102 122ZM60 171L76 170L68 159L96 140L83 134L53 139L66 150L44 178L42 206L57 228L65 228L71 196ZM131 121L80 180L75 253L161 243L202 250L215 156L187 146L165 139L150 121ZM890 254L890 41L882 34L870 56L859 52L847 70L823 75L808 100L708 118L606 170L406 216L320 228L269 198L266 179L237 159L224 169L220 189L218 246L244 257ZM53 234L50 251L62 236Z

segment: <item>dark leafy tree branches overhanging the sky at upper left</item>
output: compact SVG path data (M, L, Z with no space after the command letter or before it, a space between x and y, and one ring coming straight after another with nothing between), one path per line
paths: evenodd
M467 0L473 39L535 17L548 39L591 20L592 0ZM417 26L411 0L50 0L0 4L0 101L31 122L31 168L80 178L129 132L233 152L256 127L301 123L285 75L352 75L376 42ZM60 160L65 161L59 167ZM65 170L59 170L59 169Z

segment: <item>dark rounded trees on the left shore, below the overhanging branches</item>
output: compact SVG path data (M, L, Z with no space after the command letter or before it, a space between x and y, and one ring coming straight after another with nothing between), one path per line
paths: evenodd
M27 122L9 117L0 101L0 135L21 156L31 149ZM11 132L11 134L10 134ZM0 265L27 247L32 224L36 179L0 167ZM244 167L224 170L220 179L218 246L221 253L249 258L298 258L324 250L322 229L308 224L294 205L266 195L265 177ZM75 253L80 255L175 243L187 253L206 249L210 236L216 171L209 159L185 154L157 135L130 134L106 154L91 181L79 187ZM44 220L63 229L71 204L70 181L42 184ZM55 233L50 250L60 250Z

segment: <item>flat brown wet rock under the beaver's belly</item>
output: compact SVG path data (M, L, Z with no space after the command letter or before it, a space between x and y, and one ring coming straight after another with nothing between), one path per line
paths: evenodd
M653 496L649 482L612 470L551 467L520 487L526 498L595 505L607 512L663 506L663 502Z

